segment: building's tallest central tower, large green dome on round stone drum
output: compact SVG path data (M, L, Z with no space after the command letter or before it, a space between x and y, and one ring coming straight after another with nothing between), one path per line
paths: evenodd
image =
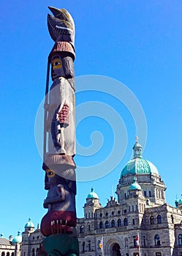
M165 203L165 185L156 167L143 158L142 146L136 141L133 146L133 158L127 162L121 171L119 184L116 194L118 202L122 205L126 203L129 197L129 186L132 184L133 178L137 178L137 183L141 187L143 196L151 202L151 205L161 206Z

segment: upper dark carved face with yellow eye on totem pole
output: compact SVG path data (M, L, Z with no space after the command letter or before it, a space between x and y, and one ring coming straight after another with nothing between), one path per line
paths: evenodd
M51 77L53 80L65 77L61 56L58 54L54 55L51 59Z

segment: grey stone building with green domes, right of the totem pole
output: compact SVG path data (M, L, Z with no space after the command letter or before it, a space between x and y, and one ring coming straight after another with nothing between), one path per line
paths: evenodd
M102 206L93 188L86 197L84 217L77 219L80 255L182 256L182 199L176 208L168 205L165 189L136 141L133 158L121 170L118 199L112 196Z

